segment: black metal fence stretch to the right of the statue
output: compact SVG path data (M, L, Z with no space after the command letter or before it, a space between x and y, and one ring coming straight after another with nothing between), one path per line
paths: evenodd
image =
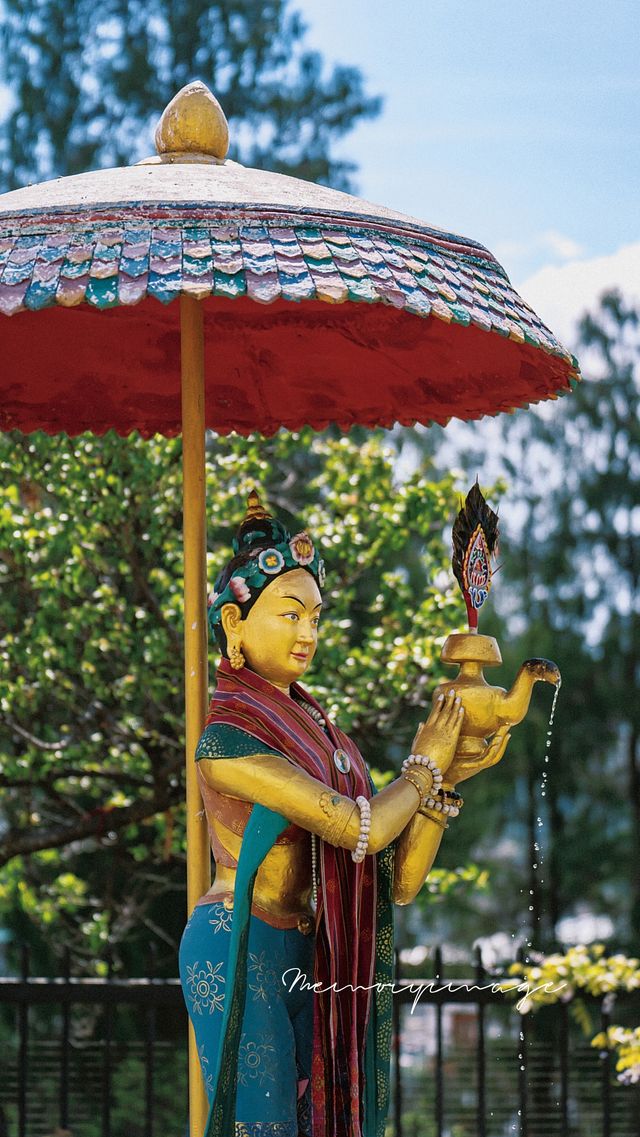
M480 952L471 979L448 980L440 948L433 972L396 985L393 1137L639 1137L640 1086L616 1081L571 1003L520 1014ZM620 1002L638 1021L640 998ZM585 1003L593 1035L624 1010L612 995Z

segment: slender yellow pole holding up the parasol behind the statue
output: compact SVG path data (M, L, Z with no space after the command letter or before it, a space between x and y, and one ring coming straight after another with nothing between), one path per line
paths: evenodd
M188 913L210 883L210 856L193 756L207 714L207 543L205 482L205 331L202 305L180 300L182 359L182 495L184 541L184 700L186 746ZM189 1024L189 1123L202 1137L207 1097Z

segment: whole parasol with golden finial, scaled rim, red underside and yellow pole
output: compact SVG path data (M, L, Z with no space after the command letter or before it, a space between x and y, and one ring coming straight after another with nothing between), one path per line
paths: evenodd
M0 197L0 426L183 434L190 906L208 887L193 763L207 702L205 428L444 424L554 398L577 377L482 246L225 160L227 138L218 102L192 83L158 124L157 157ZM202 1128L199 1089L191 1119Z

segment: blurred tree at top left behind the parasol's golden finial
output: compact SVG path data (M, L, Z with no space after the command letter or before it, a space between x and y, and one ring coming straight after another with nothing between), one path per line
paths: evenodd
M305 32L288 0L6 0L3 188L144 157L163 108L201 78L232 158L347 189L355 167L333 143L381 100L356 67L326 68Z

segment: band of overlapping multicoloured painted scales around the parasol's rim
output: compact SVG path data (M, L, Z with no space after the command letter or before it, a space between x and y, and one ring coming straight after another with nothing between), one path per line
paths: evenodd
M118 215L81 210L0 218L0 312L50 304L98 308L168 302L181 292L235 298L382 301L416 315L474 324L529 342L575 366L552 333L512 288L481 246L449 234L390 232L359 218L280 215L265 223L240 207L227 218L216 206L150 211L135 202ZM225 214L228 207L225 207ZM273 213L273 210L272 210ZM240 216L239 216L240 215ZM301 224L302 222L302 224Z

